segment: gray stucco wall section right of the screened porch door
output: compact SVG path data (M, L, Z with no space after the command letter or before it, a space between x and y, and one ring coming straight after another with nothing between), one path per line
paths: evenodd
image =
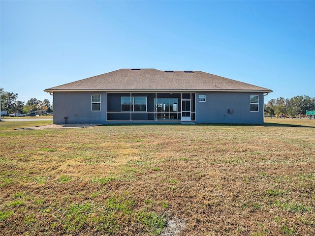
M199 102L199 95L206 95L205 102ZM259 95L259 111L251 112L251 95ZM233 109L233 113L229 113ZM264 96L257 92L197 92L197 123L246 123L261 124L263 118Z

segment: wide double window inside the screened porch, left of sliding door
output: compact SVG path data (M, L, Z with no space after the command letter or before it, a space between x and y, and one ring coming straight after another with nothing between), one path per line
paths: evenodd
M122 112L146 112L147 97L121 97Z

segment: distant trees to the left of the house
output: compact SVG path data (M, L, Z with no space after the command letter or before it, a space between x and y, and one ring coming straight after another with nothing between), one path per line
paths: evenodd
M7 111L8 113L20 112L30 113L33 111L46 111L47 113L53 112L53 105L50 104L48 99L44 101L31 98L29 101L18 101L18 94L14 92L6 92L3 88L0 88L1 96L1 111Z

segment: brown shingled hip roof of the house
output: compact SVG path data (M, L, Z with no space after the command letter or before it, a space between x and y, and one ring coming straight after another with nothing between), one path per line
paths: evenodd
M270 89L202 71L120 69L87 79L45 89L55 91L256 91Z

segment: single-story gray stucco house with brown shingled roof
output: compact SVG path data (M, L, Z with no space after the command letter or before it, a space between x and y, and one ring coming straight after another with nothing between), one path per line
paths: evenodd
M263 123L270 89L202 71L120 69L44 91L54 123Z

